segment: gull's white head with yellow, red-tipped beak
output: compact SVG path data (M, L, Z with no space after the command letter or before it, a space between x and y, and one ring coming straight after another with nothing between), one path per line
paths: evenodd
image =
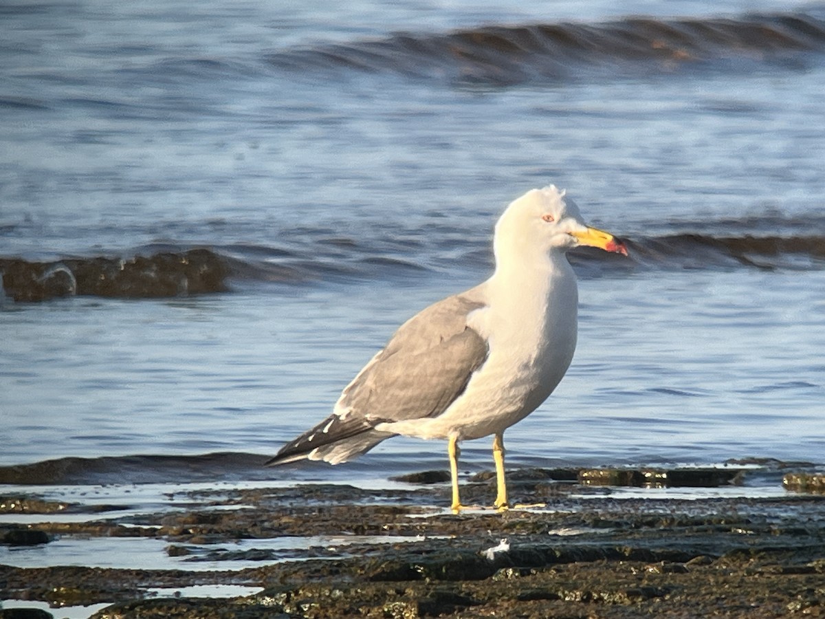
M627 255L620 241L588 227L576 203L565 194L555 185L549 185L544 189L531 189L512 201L496 224L493 239L496 261L507 258L519 262L546 261L553 254L560 256L578 245Z

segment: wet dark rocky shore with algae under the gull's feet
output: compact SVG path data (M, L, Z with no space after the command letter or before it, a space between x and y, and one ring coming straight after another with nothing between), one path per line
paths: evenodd
M151 538L163 541L166 558L180 562L176 569L0 565L0 598L50 602L54 617L60 606L111 602L94 615L101 619L825 617L822 494L634 498L619 496L616 484L728 489L749 473L600 471L515 470L512 499L534 507L459 515L434 507L449 502L437 471L392 489L197 490L188 492L186 509L106 519L89 513L75 522L50 516L87 506L6 495L3 513L42 515L36 524L0 526L6 545L48 545L61 536ZM785 484L799 479L785 475ZM801 479L802 489L818 483L816 475ZM489 475L475 475L462 498L487 503L493 485ZM264 543L296 537L310 541L302 549ZM243 549L227 543L238 540L246 541ZM225 569L196 569L204 561ZM228 584L258 593L147 593ZM0 617L48 616L19 612L7 609Z

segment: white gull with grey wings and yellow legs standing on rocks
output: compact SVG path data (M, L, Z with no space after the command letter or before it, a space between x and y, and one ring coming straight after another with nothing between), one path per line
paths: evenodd
M576 349L578 291L564 254L579 245L627 255L554 185L512 201L496 224L493 276L402 324L332 414L266 464L339 464L399 434L446 439L458 513L459 442L493 435L494 504L507 508L504 431L547 399Z

